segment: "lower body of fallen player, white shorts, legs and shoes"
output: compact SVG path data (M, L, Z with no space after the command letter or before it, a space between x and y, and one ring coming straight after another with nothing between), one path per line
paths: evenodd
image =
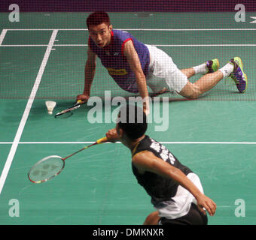
M148 46L148 45L147 45ZM172 58L163 52L161 49L157 49L155 46L148 46L151 63L150 63L150 75L158 77L160 81L155 81L152 85L148 86L153 89L154 92L160 92L163 86L166 85L168 89L174 89L178 94L188 99L196 99L203 93L208 92L212 89L219 81L225 77L231 77L236 83L239 92L245 92L247 86L247 77L243 72L242 61L236 57L231 59L223 68L219 71L218 59L207 61L205 64L196 66L192 69L188 68L183 72L180 71ZM209 68L211 71L209 71ZM196 83L190 83L188 78L193 74L202 73L204 71L209 72L205 74ZM164 83L164 84L163 84Z

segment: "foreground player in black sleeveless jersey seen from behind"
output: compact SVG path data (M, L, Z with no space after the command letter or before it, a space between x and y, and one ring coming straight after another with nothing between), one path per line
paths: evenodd
M123 106L116 127L106 133L109 142L120 141L130 148L133 174L157 210L144 224L207 224L205 209L212 216L216 205L204 195L200 178L160 142L145 135L146 130L143 110Z

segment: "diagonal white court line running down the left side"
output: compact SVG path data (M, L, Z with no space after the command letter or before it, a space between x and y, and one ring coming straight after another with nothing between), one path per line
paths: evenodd
M41 82L41 77L44 74L44 69L45 69L45 66L47 64L48 58L50 56L50 51L52 50L53 43L54 43L54 40L56 38L56 34L57 33L58 33L57 30L53 30L53 33L51 34L49 44L48 44L47 49L46 49L46 51L44 53L44 58L43 58L43 60L41 62L41 66L40 66L39 71L38 71L38 76L35 79L35 84L34 84L34 86L32 88L32 92L30 93L29 100L28 100L28 102L26 104L26 108L25 108L23 116L22 116L22 118L20 120L20 125L19 125L17 133L15 135L14 142L11 145L11 150L9 151L8 158L7 158L6 162L5 162L4 169L2 170L2 175L0 177L0 194L2 192L2 188L4 187L5 180L7 178L9 169L11 167L11 163L12 163L12 161L14 159L14 155L16 153L17 146L19 145L20 137L21 137L21 135L23 133L23 129L25 127L26 120L27 120L27 118L29 116L29 112L31 110L33 101L35 99L36 92L38 91L38 87L39 87L39 84Z

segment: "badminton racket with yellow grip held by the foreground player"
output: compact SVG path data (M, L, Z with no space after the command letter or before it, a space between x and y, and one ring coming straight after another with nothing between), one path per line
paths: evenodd
M28 173L29 180L32 181L33 183L41 183L44 181L48 181L51 178L54 178L56 175L59 175L59 173L62 172L62 169L64 169L66 159L72 157L73 155L77 154L80 151L83 151L86 148L90 148L93 145L100 144L106 141L107 138L102 137L93 144L87 145L86 147L81 148L78 151L75 151L74 153L70 154L67 157L59 157L57 155L44 157L43 159L35 163L35 165L32 166L32 168L30 169Z

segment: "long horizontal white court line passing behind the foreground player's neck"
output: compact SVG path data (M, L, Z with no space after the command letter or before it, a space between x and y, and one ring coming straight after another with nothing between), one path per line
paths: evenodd
M12 144L13 142L0 142L0 144ZM19 144L91 144L94 142L19 142ZM105 142L111 143L111 142ZM121 142L116 142L121 143ZM256 145L256 142L160 142L161 144L240 144L240 145Z

